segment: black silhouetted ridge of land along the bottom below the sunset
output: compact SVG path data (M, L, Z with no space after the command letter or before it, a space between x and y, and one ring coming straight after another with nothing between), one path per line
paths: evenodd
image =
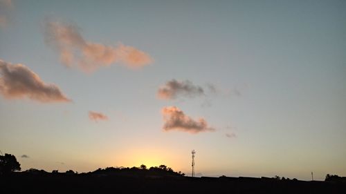
M277 177L186 177L164 165L99 168L80 174L30 169L1 175L0 189L1 193L346 193L345 177L329 178L306 182Z

